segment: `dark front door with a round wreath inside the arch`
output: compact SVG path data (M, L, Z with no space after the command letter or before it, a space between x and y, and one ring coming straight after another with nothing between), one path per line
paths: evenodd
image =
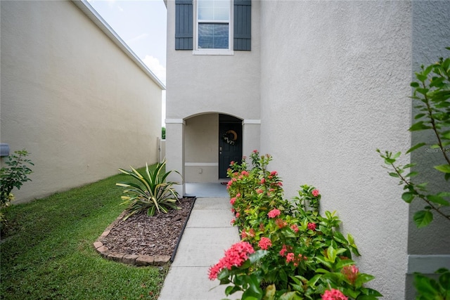
M242 121L226 117L223 117L226 119L223 122L219 121L219 178L226 178L231 161L240 162L242 159Z

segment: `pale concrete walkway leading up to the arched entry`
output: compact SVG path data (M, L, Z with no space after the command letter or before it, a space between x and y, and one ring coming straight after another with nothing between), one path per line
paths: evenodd
M223 185L221 188L225 189ZM238 228L231 226L231 219L233 214L229 197L204 197L195 200L191 217L158 299L226 298L225 286L218 287L218 280L210 281L208 270L224 256L231 244L240 241Z

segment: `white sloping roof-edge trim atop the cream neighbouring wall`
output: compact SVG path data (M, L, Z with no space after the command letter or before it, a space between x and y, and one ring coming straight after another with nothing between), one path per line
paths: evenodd
M98 28L100 28L103 33L105 33L113 42L116 44L122 51L124 51L125 54L131 60L138 65L138 67L143 70L144 73L147 74L150 79L155 81L155 84L158 84L162 90L166 89L166 86L160 81L158 77L156 77L155 74L147 67L145 63L142 62L142 60L136 56L136 54L129 48L127 43L125 43L120 37L119 34L117 34L113 28L110 27L108 22L106 22L103 18L101 18L101 15L97 13L97 11L89 4L86 0L71 0L75 6L77 6L89 19L91 19L92 22L94 22L95 25L97 25Z

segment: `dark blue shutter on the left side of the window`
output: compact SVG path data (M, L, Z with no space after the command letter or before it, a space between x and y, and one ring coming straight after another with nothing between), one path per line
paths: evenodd
M175 50L192 50L192 0L176 0L175 13Z

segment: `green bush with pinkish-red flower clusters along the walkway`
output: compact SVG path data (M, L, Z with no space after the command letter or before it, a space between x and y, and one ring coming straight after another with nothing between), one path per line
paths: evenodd
M364 287L373 276L352 261L359 256L352 235L339 232L335 212L319 214L319 190L302 185L298 197L284 200L278 173L267 169L271 156L255 150L250 158L249 170L245 159L231 164L227 188L234 225L253 251L238 263L219 261L210 279L229 285L227 296L242 291L242 299L378 299Z

